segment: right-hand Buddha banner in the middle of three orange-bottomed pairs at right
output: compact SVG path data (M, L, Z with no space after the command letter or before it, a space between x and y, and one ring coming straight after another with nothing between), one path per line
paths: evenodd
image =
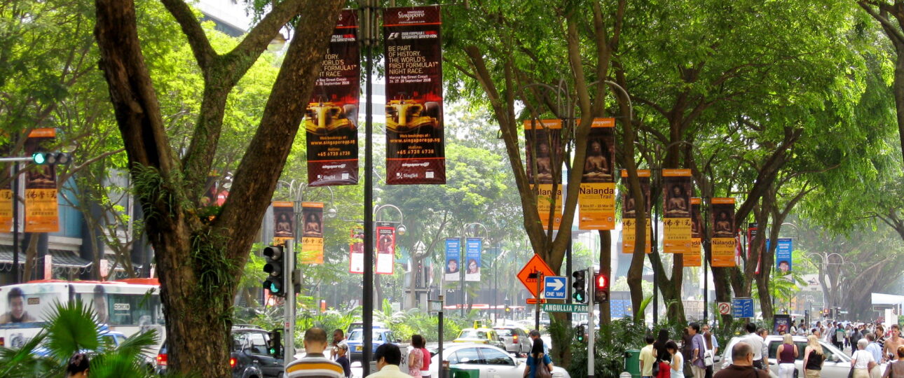
M691 249L691 170L663 170L663 252Z

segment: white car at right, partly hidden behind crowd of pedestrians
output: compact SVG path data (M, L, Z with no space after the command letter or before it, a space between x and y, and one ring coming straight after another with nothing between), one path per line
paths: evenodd
M738 344L740 339L743 337L732 337L731 341L729 341L728 346L723 349L725 352L722 355L719 364L720 368L728 367L731 364L731 348ZM769 346L769 375L777 377L778 376L778 346L782 345L783 337L777 335L770 335L766 337L766 343ZM800 376L804 376L804 351L806 350L806 337L796 336L793 337L794 343L797 346L797 359L795 361L795 366L797 371L800 373ZM823 340L819 340L819 345L823 346L823 353L825 355L825 363L823 364L822 376L823 378L847 378L848 373L851 371L851 356L845 354L843 351L839 350L835 346L824 342ZM884 364L880 366L880 372L885 371Z

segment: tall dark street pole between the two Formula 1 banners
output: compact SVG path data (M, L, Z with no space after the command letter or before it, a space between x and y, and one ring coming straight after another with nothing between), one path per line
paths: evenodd
M363 376L371 373L373 346L373 44L376 39L375 0L363 0L363 35L365 55L364 90L364 277L363 277Z

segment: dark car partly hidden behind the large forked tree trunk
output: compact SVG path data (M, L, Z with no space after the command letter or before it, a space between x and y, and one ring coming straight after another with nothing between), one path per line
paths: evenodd
M229 364L232 378L282 378L283 358L269 355L267 331L260 328L232 328ZM166 373L166 343L157 354L157 373Z

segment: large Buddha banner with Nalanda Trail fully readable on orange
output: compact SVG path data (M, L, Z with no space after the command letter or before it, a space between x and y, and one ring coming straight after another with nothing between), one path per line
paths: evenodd
M616 227L615 124L615 118L595 118L590 126L578 194L578 228L582 230Z

